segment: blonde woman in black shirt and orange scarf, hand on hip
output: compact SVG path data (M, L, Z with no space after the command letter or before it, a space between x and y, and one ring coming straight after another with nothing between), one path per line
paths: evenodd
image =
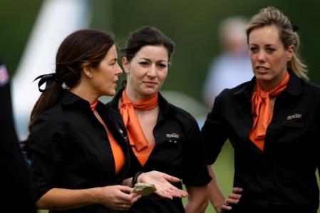
M209 164L227 139L234 147L234 187L242 197L231 194L223 208L316 213L320 88L298 56L297 27L267 7L246 32L254 78L217 95L202 128Z

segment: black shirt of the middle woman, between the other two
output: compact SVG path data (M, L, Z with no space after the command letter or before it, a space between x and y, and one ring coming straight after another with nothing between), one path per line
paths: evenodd
M120 130L125 127L118 109L122 91L120 90L107 104L108 111L112 111L109 116L117 123ZM129 176L132 177L138 171L158 170L182 179L185 185L206 185L210 182L210 176L196 120L190 113L168 103L161 94L158 99L160 113L153 130L155 147L144 166L140 165L131 150ZM127 138L123 132L116 131L113 134L123 135L123 140ZM182 189L182 183L176 186ZM162 199L156 194L151 194L140 198L129 212L185 212L185 209L182 199Z

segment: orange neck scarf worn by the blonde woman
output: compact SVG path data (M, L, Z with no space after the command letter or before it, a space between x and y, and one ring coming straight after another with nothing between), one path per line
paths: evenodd
M251 96L253 126L249 133L249 138L255 145L257 145L259 150L264 150L264 137L266 137L267 128L273 115L269 97L277 96L285 90L287 88L289 78L290 75L287 72L282 82L269 91L262 90L262 86L260 85L259 80L257 80L257 91L252 93Z

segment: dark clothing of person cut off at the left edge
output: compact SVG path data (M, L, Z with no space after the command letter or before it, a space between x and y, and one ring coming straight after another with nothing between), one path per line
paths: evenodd
M10 82L0 85L0 108L0 189L4 194L1 208L14 209L14 212L36 213L29 170L14 128Z

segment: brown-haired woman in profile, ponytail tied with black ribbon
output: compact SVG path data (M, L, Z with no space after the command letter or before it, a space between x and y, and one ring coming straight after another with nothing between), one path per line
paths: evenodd
M83 29L61 43L56 72L38 77L42 94L31 113L28 146L39 209L115 212L140 198L121 185L130 165L128 145L110 133L115 125L98 100L115 94L121 73L113 36ZM149 174L166 185L178 181Z

